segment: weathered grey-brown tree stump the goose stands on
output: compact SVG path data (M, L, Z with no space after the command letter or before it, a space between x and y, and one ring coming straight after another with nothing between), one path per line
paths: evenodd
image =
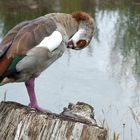
M14 102L0 104L0 140L106 140L93 108L70 104L61 114L42 113Z

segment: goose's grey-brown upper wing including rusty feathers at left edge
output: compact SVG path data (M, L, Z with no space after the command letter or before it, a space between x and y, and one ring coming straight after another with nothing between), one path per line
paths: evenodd
M21 23L21 25L14 27L1 42L0 76L7 71L14 59L17 60L16 63L20 61L18 57L25 56L27 51L56 30L56 24L45 17Z

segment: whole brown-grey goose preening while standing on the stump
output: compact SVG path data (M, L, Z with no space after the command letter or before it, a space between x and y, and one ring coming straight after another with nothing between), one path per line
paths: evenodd
M66 49L88 46L94 30L93 18L83 11L49 13L17 24L0 43L0 86L24 82L29 107L47 111L38 105L35 79Z

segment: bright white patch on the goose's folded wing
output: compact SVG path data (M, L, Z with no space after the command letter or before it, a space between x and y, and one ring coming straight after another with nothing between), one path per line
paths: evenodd
M54 31L50 36L45 37L37 47L45 47L50 51L55 50L62 42L62 34L59 31Z

